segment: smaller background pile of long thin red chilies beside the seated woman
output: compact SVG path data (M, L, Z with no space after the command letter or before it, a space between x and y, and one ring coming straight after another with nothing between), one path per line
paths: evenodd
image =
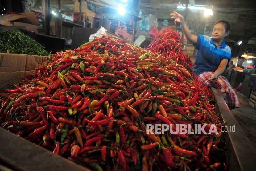
M207 96L211 96L211 90L204 86L194 73L193 64L188 54L182 50L182 40L180 34L169 27L163 27L159 34L153 39L148 48L156 53L163 54L166 58L171 58L178 64L183 65L193 77L193 82L198 84Z

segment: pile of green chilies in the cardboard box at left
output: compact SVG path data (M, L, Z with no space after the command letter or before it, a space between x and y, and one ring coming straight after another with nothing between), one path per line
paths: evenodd
M0 32L0 52L6 53L7 50L11 54L49 55L41 44L18 30Z

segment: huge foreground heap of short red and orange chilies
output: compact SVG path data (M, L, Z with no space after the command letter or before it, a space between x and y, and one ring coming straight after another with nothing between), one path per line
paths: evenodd
M170 58L103 35L58 52L1 95L0 124L93 170L218 170L223 124ZM147 124L216 124L218 133L146 133Z

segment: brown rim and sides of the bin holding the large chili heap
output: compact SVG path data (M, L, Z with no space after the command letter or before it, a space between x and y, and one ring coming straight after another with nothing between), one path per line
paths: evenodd
M256 153L253 150L253 147L218 90L212 88L212 93L216 101L216 113L221 113L223 121L228 122L231 126L227 127L225 138L229 170L255 170ZM235 125L235 132L232 132L233 125ZM5 129L0 128L0 135L0 163L9 167L11 170L88 170L72 161L51 153L43 147L18 137ZM2 166L0 165L0 169L1 167Z

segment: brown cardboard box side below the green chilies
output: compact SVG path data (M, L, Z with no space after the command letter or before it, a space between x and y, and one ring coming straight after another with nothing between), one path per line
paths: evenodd
M0 93L14 88L14 83L47 61L47 56L0 53Z

